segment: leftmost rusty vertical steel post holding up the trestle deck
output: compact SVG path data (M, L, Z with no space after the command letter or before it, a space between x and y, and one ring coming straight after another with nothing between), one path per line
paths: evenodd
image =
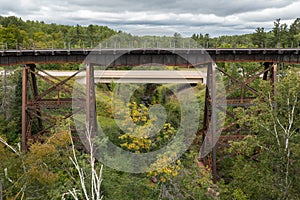
M27 100L28 100L28 67L22 70L22 151L27 150Z

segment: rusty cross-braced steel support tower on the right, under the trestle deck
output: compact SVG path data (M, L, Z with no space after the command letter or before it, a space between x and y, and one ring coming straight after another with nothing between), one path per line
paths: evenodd
M271 64L272 63L266 62L264 63L264 69L255 69L255 71L248 72L250 74L249 76L243 75L243 77L240 78L235 78L233 75L226 72L225 69L213 66L213 63L209 64L208 66L202 140L205 140L205 142L208 142L210 144L216 144L212 146L212 153L210 157L206 159L205 163L206 165L209 165L211 167L214 181L218 179L216 159L217 148L220 148L220 144L222 144L222 142L226 142L227 138L226 136L220 136L220 140L218 142L214 141L217 134L220 134L220 132L229 132L230 134L240 133L244 130L244 127L240 127L238 125L238 118L235 116L235 114L229 109L223 108L221 105L225 104L227 107L232 108L247 107L253 105L252 101L256 98L256 96L259 95L259 91L253 88L250 83L259 78L261 75L263 75L264 80L269 80L268 77L270 77L270 82L273 85L274 95L276 95L276 88L274 83L276 81L277 66L271 66ZM216 70L230 79L228 85L225 86L226 91L224 91L224 93L221 92L216 94ZM247 78L245 79L245 77ZM237 90L240 90L240 93L238 95L233 93ZM247 96L245 95L246 90L248 92ZM233 96L231 96L232 93ZM227 97L226 99L220 99L219 97L222 96ZM218 128L218 116L216 114L217 109L226 114L227 126L223 127L222 129ZM206 138L207 136L209 137ZM240 134L234 136L236 137L231 137L230 140L243 138Z

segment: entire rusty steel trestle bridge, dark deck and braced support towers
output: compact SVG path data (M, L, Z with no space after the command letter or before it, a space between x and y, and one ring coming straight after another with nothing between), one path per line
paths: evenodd
M59 109L72 107L72 84L69 83L80 71L63 80L38 69L36 64L47 63L84 63L86 74L85 102L86 123L89 127L96 127L95 91L94 91L94 66L140 66L155 63L165 66L197 67L207 65L206 96L203 122L203 135L210 131L215 135L218 131L232 131L236 125L232 123L222 130L217 130L217 122L214 120L215 110L220 104L227 106L249 106L252 97L241 95L238 98L219 100L215 94L216 70L231 80L231 85L226 86L227 93L236 90L249 90L252 94L258 94L250 83L256 78L268 77L271 83L276 81L277 63L299 64L300 54L298 48L293 49L45 49L45 50L5 50L0 51L0 66L23 65L22 71L22 150L26 151L27 143L32 137L42 134L55 126L59 120L47 113L42 108ZM204 55L204 56L203 56ZM260 62L263 67L257 69L246 80L237 80L225 70L215 67L217 62ZM45 76L46 75L46 76ZM42 79L49 88L40 92L37 78ZM65 98L61 91L68 94ZM56 98L48 98L52 92L57 92ZM82 108L78 108L82 109ZM64 113L63 119L67 119L76 111ZM233 113L223 110L228 117L235 118ZM21 114L21 113L20 113ZM34 123L37 130L32 135ZM238 130L234 130L238 131ZM216 177L216 147L211 154L212 172Z

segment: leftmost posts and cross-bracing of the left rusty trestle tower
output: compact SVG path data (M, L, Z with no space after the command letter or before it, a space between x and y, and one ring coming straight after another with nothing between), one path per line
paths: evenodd
M22 70L22 150L28 149L28 140L38 140L39 135L49 131L60 121L73 115L73 84L71 81L81 70L73 75L59 79L37 69L35 64L27 64ZM45 84L39 93L37 78ZM84 92L82 92L84 93ZM62 95L63 94L63 95ZM64 96L64 98L62 98ZM84 106L78 105L79 110ZM52 110L51 114L48 113Z

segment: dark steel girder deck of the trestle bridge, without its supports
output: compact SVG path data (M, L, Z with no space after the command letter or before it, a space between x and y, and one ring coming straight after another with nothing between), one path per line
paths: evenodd
M191 66L214 62L300 63L300 49L39 49L2 50L0 66L43 63L83 63L89 60L103 66L137 66L160 63Z

